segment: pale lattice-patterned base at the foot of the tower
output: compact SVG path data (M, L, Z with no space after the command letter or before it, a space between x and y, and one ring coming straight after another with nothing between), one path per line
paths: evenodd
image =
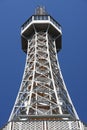
M21 118L8 122L0 130L87 130L79 120L55 117Z

